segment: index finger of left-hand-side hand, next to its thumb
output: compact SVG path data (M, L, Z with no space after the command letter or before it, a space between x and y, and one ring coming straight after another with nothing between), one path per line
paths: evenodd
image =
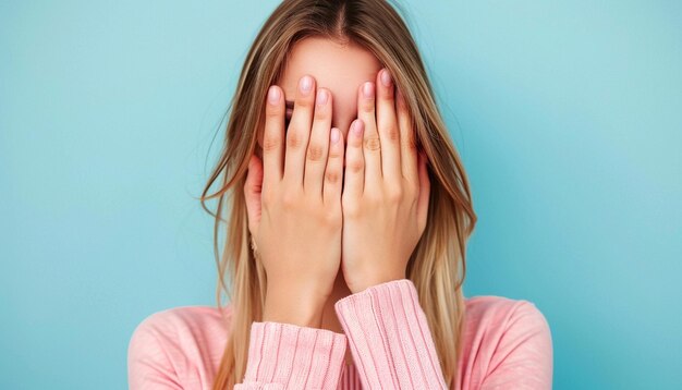
M284 156L284 99L277 85L270 86L265 108L263 133L264 183L273 186L282 180Z

